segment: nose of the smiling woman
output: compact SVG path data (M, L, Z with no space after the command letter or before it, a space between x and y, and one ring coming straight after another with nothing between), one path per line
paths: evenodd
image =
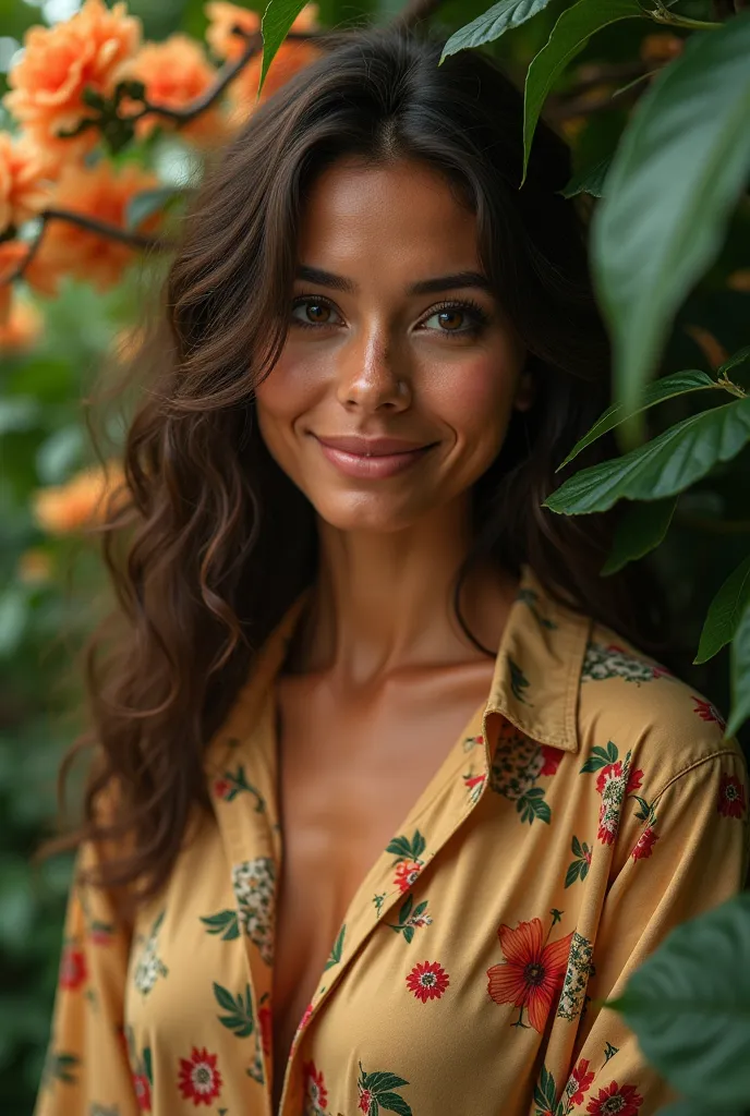
M347 411L405 411L412 402L408 369L379 338L352 343L339 353L338 401Z

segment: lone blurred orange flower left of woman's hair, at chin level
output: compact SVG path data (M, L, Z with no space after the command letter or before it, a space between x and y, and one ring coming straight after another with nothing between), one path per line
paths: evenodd
M127 503L127 490L121 489L123 481L117 462L109 462L106 473L98 464L81 469L66 484L37 490L32 496L35 519L50 535L69 535L103 523L108 510Z

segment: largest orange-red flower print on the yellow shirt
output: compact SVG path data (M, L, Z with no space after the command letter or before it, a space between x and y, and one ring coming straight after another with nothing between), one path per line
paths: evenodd
M552 926L558 918L559 912L555 912ZM512 1003L521 1009L513 1027L531 1026L541 1033L552 1001L562 988L573 931L557 942L548 942L549 934L545 934L541 920L532 918L520 922L516 930L503 924L498 937L506 960L487 970L487 990L496 1003ZM523 1022L525 1009L528 1023Z

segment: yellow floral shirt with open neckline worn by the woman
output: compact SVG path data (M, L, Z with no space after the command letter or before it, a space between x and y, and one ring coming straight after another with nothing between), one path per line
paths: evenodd
M741 886L747 775L717 710L525 569L487 705L272 1067L273 677L295 617L206 751L215 819L133 933L71 888L35 1116L271 1116L272 1071L281 1116L651 1116L671 1095L600 1004Z

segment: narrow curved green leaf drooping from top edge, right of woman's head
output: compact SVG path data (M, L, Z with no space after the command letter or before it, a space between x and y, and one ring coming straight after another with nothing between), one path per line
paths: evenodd
M567 8L551 30L547 45L531 60L523 92L523 175L531 151L531 141L542 105L555 79L571 58L583 50L596 31L622 19L642 19L638 0L578 0Z

